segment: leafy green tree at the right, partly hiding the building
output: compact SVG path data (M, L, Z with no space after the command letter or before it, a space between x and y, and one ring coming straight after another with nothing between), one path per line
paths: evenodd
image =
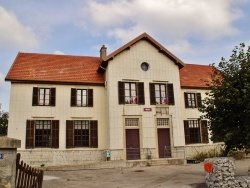
M213 64L214 66L214 64ZM223 141L224 154L250 148L250 47L236 46L229 60L221 59L211 75L211 91L200 111L210 120L213 141Z

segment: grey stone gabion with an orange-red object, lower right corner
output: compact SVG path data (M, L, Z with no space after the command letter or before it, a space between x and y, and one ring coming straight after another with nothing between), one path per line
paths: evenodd
M208 188L250 188L250 176L235 176L233 158L218 157L205 159L204 168L207 172L205 180Z

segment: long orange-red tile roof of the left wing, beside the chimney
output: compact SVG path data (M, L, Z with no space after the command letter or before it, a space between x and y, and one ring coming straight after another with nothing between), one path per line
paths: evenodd
M19 53L6 81L104 84L99 57Z

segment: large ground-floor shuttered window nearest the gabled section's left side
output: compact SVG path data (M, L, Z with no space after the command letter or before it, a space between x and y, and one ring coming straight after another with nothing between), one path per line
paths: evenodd
M66 121L66 148L74 147L98 147L97 121Z

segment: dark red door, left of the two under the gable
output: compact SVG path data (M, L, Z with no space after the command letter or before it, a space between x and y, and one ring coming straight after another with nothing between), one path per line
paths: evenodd
M139 129L126 129L127 160L140 159Z

